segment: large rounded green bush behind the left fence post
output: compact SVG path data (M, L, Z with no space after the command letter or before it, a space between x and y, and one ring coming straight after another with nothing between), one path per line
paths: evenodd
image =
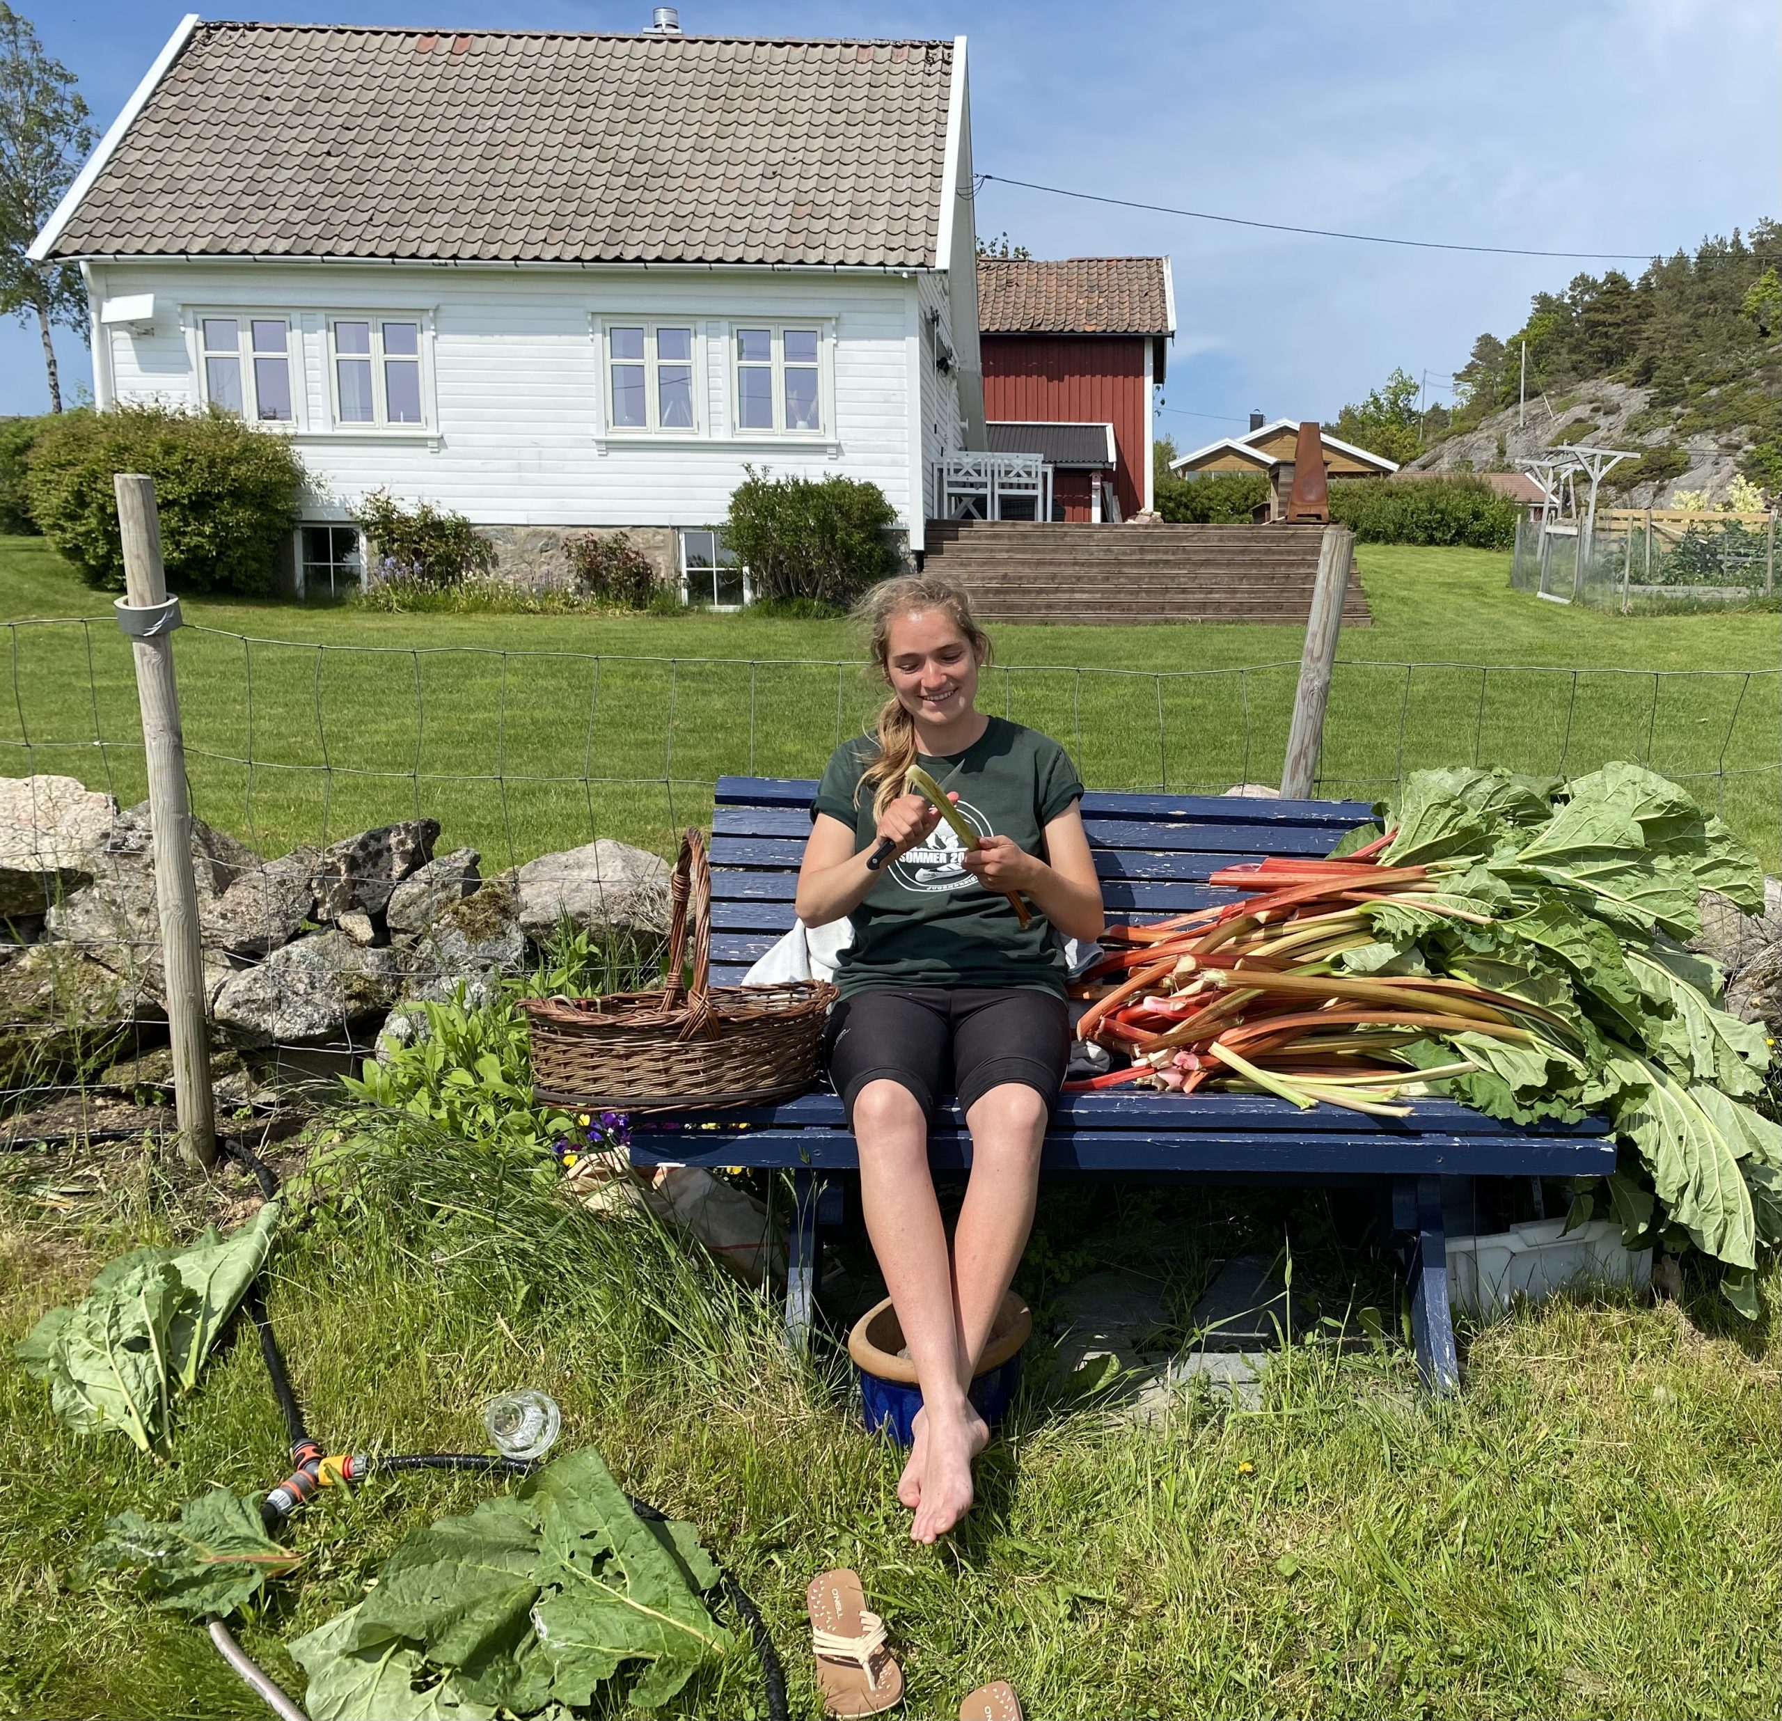
M155 481L173 590L273 590L303 488L303 463L283 436L233 413L171 406L69 412L45 426L25 476L32 518L105 591L123 590L114 472Z

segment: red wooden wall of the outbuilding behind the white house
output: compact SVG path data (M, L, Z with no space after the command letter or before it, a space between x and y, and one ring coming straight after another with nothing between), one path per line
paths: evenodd
M978 346L985 419L1112 424L1121 513L1130 520L1144 508L1151 458L1144 440L1146 337L980 335ZM1060 472L1055 485L1066 476L1082 483L1078 474ZM1082 488L1087 495L1087 485ZM1087 520L1087 501L1067 504L1066 517Z

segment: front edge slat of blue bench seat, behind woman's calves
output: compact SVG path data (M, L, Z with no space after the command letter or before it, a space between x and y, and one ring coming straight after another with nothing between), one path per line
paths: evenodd
M633 1130L636 1165L752 1165L763 1169L813 1167L855 1170L859 1151L841 1130L699 1131L645 1135ZM928 1137L928 1163L937 1170L964 1170L971 1163L971 1137L936 1131ZM1041 1170L1123 1172L1274 1172L1317 1176L1490 1176L1577 1178L1614 1169L1614 1144L1600 1138L1540 1135L1148 1135L1135 1130L1082 1130L1048 1135Z

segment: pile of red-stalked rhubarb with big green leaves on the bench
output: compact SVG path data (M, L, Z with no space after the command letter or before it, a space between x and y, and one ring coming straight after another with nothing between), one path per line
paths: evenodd
M1718 1258L1755 1315L1755 1251L1782 1238L1782 1128L1745 1105L1770 1048L1684 948L1702 891L1762 910L1755 857L1632 764L1570 782L1418 771L1379 814L1329 859L1214 873L1233 901L1110 928L1073 987L1078 1035L1130 1065L1073 1087L1602 1113L1622 1163L1582 1211L1606 1199L1631 1247Z

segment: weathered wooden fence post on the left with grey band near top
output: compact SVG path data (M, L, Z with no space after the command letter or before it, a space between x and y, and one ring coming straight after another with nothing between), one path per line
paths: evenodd
M168 575L160 565L155 481L139 472L118 472L112 486L123 531L125 595L116 602L118 625L130 636L135 657L143 748L148 755L148 816L155 841L155 905L160 910L160 964L168 982L175 1115L180 1153L208 1167L217 1156L216 1096L210 1092L205 966L198 942L192 807L185 789L180 689L173 679L173 629L180 625L180 600L168 597Z

